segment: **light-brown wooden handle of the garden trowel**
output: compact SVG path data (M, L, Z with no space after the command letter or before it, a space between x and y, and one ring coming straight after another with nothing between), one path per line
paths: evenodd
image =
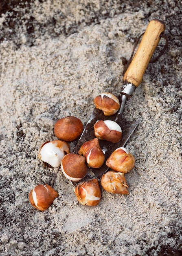
M160 20L151 20L143 35L140 45L123 76L124 83L133 83L136 87L142 81L147 65L155 51L160 34L165 30L165 25Z

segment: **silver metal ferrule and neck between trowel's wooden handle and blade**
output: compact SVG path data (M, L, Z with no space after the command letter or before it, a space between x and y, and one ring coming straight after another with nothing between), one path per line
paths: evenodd
M136 88L136 86L132 83L126 83L125 85L123 85L123 90L121 92L121 94L122 94L121 95L121 106L120 106L120 109L118 111L115 121L117 121L118 116L121 116L123 114L126 100L127 100L127 98L131 98L132 93L134 92L135 88Z

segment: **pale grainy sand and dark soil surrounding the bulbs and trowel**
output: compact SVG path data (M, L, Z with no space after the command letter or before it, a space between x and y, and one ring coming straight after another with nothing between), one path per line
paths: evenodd
M181 4L1 1L2 256L182 255ZM125 119L139 120L126 145L136 158L125 175L129 195L101 189L97 207L82 206L60 168L44 168L37 152L56 139L57 119L73 115L85 125L94 97L120 95L122 57L153 18L165 23L169 46L125 106ZM44 212L34 209L29 192L53 179L59 198Z

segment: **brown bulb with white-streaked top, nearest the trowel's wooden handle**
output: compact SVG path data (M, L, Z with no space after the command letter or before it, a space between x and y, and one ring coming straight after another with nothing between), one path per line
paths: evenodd
M120 107L118 98L109 92L103 92L95 97L94 104L96 108L103 111L105 116L114 115Z

